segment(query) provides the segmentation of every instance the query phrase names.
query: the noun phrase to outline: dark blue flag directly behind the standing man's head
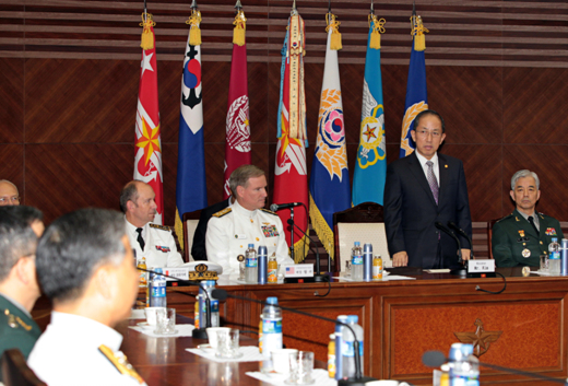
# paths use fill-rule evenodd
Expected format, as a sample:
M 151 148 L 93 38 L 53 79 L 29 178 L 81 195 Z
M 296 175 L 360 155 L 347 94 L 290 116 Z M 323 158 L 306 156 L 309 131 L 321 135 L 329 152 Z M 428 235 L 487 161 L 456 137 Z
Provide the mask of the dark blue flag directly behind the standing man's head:
M 411 51 L 411 66 L 409 68 L 409 81 L 406 83 L 406 101 L 404 102 L 404 118 L 402 119 L 400 157 L 412 154 L 416 144 L 412 140 L 411 130 L 414 118 L 418 113 L 428 109 L 426 92 L 426 60 L 424 57 L 424 32 L 422 20 L 413 13 L 413 43 Z M 416 40 L 418 39 L 418 43 Z M 421 50 L 416 50 L 416 46 Z

